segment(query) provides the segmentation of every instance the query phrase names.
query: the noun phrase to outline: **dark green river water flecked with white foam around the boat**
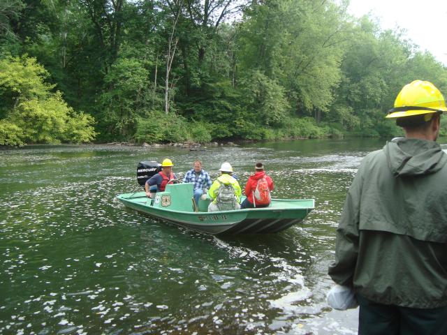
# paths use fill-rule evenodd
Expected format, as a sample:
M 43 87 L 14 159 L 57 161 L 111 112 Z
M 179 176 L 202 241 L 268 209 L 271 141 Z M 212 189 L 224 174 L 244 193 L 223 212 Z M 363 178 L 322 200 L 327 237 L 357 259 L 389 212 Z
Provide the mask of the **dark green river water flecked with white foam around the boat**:
M 325 304 L 335 230 L 358 165 L 384 140 L 300 140 L 202 151 L 32 146 L 0 151 L 0 334 L 356 334 Z M 261 161 L 274 198 L 314 198 L 304 223 L 213 237 L 125 209 L 139 161 L 177 177 Z

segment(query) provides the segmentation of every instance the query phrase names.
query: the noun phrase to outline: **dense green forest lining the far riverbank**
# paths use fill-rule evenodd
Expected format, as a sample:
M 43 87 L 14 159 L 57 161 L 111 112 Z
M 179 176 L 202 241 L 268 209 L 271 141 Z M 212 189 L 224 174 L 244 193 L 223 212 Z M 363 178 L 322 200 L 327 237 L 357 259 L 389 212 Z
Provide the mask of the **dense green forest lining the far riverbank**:
M 0 145 L 392 136 L 447 68 L 344 0 L 2 0 Z

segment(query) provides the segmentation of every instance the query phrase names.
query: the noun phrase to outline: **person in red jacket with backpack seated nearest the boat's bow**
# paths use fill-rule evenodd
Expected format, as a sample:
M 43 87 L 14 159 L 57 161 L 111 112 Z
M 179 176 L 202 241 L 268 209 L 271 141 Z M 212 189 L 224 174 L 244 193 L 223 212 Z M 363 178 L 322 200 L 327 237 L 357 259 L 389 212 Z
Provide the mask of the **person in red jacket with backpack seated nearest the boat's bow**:
M 272 178 L 265 174 L 263 163 L 256 163 L 254 171 L 245 185 L 247 198 L 240 204 L 241 209 L 270 206 L 270 191 L 274 187 Z

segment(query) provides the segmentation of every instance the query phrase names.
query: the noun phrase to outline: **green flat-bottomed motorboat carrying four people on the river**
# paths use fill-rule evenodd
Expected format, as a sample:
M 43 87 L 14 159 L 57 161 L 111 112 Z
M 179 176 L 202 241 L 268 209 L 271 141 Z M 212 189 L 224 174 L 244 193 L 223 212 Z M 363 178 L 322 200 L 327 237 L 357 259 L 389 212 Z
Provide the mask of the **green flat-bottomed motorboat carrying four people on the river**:
M 314 199 L 272 199 L 265 208 L 208 213 L 210 199 L 200 199 L 196 207 L 192 194 L 193 184 L 168 184 L 164 192 L 156 193 L 153 202 L 145 192 L 121 194 L 117 198 L 126 207 L 207 234 L 280 232 L 300 223 L 314 209 Z

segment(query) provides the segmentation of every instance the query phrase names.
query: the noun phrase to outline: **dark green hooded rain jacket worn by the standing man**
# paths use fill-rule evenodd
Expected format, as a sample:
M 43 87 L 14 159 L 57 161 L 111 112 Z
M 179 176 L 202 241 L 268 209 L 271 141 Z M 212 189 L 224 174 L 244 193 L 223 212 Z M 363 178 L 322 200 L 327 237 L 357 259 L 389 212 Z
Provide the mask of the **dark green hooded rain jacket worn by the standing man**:
M 349 189 L 328 274 L 379 304 L 447 305 L 447 155 L 399 138 L 368 154 Z

